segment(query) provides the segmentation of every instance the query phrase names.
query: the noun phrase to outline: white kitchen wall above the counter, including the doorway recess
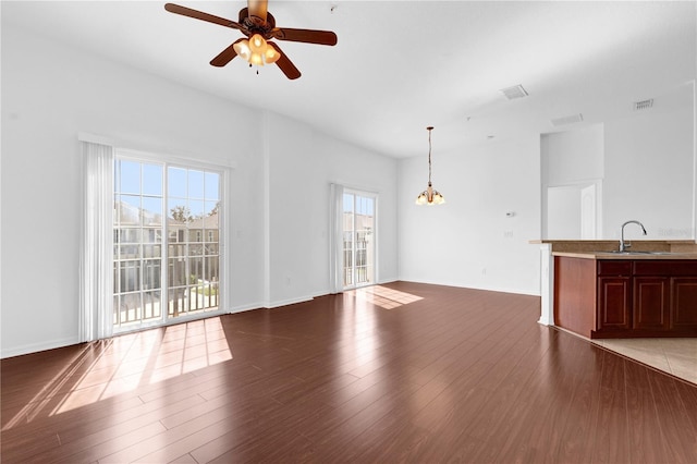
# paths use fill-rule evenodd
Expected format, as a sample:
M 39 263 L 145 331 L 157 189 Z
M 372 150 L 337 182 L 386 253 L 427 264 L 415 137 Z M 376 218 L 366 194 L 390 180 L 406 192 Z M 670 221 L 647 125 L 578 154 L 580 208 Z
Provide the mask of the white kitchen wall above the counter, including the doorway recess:
M 626 236 L 646 240 L 695 237 L 695 95 L 687 83 L 655 98 L 653 108 L 589 127 L 541 136 L 542 233 L 545 239 L 579 239 L 570 206 L 547 197 L 549 186 L 598 188 L 598 239 L 619 240 L 623 222 L 638 227 Z M 580 192 L 579 192 L 580 194 Z M 558 196 L 561 199 L 561 195 Z M 547 212 L 550 211 L 549 215 Z

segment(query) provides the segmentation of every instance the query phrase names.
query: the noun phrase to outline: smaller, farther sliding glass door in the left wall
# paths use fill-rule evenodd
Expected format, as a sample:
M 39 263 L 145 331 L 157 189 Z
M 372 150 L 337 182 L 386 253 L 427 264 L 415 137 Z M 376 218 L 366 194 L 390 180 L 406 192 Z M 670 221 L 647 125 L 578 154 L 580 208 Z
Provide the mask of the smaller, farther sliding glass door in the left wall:
M 344 289 L 375 283 L 376 222 L 376 197 L 367 193 L 344 191 Z

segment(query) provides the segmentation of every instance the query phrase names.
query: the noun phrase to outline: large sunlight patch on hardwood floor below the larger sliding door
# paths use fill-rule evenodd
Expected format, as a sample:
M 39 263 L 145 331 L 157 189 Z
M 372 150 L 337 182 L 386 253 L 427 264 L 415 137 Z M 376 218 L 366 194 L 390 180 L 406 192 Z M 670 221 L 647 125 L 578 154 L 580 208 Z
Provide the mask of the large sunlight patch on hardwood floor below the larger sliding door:
M 88 343 L 3 430 L 49 410 L 62 414 L 232 357 L 217 317 Z

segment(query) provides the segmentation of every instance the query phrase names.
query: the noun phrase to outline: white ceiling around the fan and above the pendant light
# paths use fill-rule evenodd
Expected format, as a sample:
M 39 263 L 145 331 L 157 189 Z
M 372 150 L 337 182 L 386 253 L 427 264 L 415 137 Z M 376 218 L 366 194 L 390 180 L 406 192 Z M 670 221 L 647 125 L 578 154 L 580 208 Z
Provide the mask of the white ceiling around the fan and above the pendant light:
M 237 20 L 244 1 L 172 2 Z M 2 1 L 2 22 L 393 156 L 465 151 L 550 120 L 626 117 L 697 76 L 697 2 L 270 0 L 281 27 L 334 30 L 335 47 L 277 41 L 303 76 L 208 62 L 237 30 L 164 1 Z M 522 84 L 524 99 L 500 89 Z

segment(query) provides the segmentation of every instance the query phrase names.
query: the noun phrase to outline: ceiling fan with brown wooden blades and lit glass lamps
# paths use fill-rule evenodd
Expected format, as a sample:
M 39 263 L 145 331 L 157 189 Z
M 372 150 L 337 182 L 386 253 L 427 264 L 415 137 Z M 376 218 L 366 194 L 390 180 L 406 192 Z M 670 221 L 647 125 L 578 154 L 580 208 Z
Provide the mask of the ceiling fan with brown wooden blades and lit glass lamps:
M 295 68 L 281 48 L 270 39 L 301 41 L 305 44 L 337 45 L 337 34 L 330 30 L 293 29 L 289 27 L 276 27 L 276 19 L 267 10 L 267 0 L 247 0 L 247 8 L 240 10 L 239 22 L 225 20 L 192 10 L 191 8 L 167 3 L 164 10 L 194 17 L 208 23 L 219 24 L 240 30 L 246 38 L 240 38 L 221 51 L 210 61 L 213 66 L 224 66 L 233 58 L 240 56 L 249 65 L 264 65 L 276 63 L 283 74 L 290 80 L 301 76 L 301 72 Z

